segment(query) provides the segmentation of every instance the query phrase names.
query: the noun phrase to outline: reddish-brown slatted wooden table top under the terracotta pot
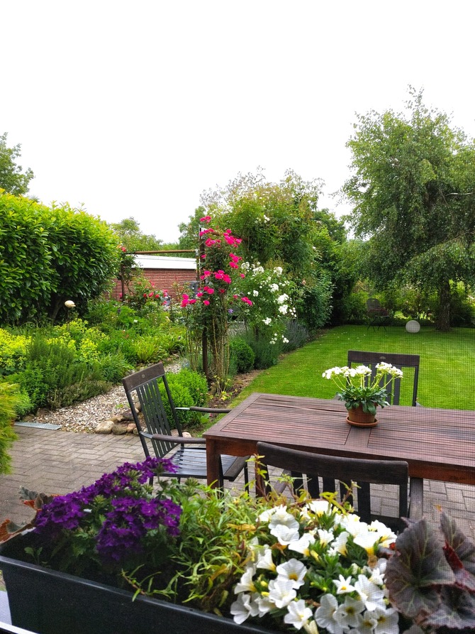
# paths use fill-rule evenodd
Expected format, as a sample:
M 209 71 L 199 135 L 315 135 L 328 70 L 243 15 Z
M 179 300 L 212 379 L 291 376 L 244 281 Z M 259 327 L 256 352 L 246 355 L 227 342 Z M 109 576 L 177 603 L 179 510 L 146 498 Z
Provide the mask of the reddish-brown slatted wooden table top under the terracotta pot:
M 409 475 L 475 484 L 475 411 L 391 405 L 369 429 L 338 400 L 253 393 L 203 436 L 208 455 L 249 455 L 258 441 L 355 458 L 403 459 Z

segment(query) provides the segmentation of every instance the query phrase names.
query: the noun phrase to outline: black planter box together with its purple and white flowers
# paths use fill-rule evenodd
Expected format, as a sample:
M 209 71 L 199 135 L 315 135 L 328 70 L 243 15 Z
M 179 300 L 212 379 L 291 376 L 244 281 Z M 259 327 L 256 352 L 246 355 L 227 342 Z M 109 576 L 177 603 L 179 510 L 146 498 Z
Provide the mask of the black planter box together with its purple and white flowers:
M 386 526 L 360 523 L 332 496 L 233 496 L 160 479 L 164 469 L 168 460 L 147 458 L 65 496 L 23 490 L 35 518 L 1 527 L 15 625 L 41 634 L 312 633 L 330 618 L 317 613 L 321 601 L 345 611 L 345 592 L 363 587 L 393 613 L 375 556 L 396 539 Z M 159 479 L 153 487 L 151 476 Z M 362 618 L 368 605 L 358 603 Z

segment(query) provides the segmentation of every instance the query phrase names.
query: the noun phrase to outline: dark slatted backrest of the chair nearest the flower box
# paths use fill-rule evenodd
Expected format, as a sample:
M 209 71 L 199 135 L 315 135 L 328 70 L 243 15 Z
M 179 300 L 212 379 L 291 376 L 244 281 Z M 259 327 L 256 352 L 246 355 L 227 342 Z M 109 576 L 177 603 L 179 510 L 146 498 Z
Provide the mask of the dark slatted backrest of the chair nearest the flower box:
M 291 472 L 306 474 L 307 478 L 318 481 L 318 476 L 325 479 L 337 479 L 341 482 L 357 482 L 358 515 L 364 522 L 371 522 L 371 488 L 370 484 L 394 484 L 399 487 L 399 515 L 395 525 L 403 526 L 399 518 L 408 516 L 408 481 L 409 467 L 406 461 L 400 460 L 365 460 L 359 458 L 341 458 L 301 452 L 296 449 L 279 447 L 267 442 L 257 443 L 257 453 L 264 466 L 277 466 Z M 313 489 L 315 491 L 315 487 Z M 334 490 L 334 489 L 333 489 Z M 315 493 L 312 492 L 315 497 Z M 388 518 L 381 518 L 388 522 Z

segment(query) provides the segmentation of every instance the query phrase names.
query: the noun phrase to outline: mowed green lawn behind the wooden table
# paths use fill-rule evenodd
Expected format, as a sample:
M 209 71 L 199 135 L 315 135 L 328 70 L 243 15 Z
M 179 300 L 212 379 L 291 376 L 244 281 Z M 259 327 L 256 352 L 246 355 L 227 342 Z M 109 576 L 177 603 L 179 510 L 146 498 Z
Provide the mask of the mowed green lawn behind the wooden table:
M 410 334 L 404 327 L 388 327 L 386 331 L 336 327 L 262 371 L 236 402 L 252 392 L 333 398 L 335 384 L 322 378 L 322 373 L 346 365 L 348 350 L 419 354 L 419 403 L 431 408 L 475 410 L 475 329 L 468 328 L 441 333 L 424 327 Z M 410 405 L 412 383 L 413 376 L 405 373 L 401 405 Z

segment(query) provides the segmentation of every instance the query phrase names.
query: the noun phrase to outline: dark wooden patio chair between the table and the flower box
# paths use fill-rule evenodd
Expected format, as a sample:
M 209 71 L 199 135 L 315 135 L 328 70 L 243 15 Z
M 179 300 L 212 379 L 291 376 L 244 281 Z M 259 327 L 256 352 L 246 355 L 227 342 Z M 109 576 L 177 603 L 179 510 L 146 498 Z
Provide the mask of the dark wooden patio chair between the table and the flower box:
M 364 522 L 379 520 L 392 530 L 400 531 L 406 527 L 401 518 L 418 520 L 423 515 L 423 480 L 408 476 L 408 463 L 399 460 L 365 460 L 360 458 L 342 458 L 326 456 L 324 454 L 312 454 L 300 452 L 296 449 L 279 447 L 267 442 L 257 443 L 257 453 L 262 456 L 259 459 L 264 469 L 267 466 L 276 466 L 286 472 L 300 471 L 307 475 L 308 493 L 313 498 L 320 497 L 318 476 L 340 480 L 350 486 L 351 482 L 357 482 L 361 486 L 357 491 L 358 510 L 357 515 Z M 295 484 L 295 483 L 294 483 Z M 371 484 L 396 485 L 399 488 L 398 517 L 391 515 L 376 515 L 371 513 Z M 408 500 L 408 484 L 410 488 Z M 323 488 L 323 491 L 335 491 L 335 488 Z M 384 491 L 384 489 L 383 489 Z M 346 492 L 341 486 L 340 496 Z M 352 496 L 349 498 L 352 503 Z

